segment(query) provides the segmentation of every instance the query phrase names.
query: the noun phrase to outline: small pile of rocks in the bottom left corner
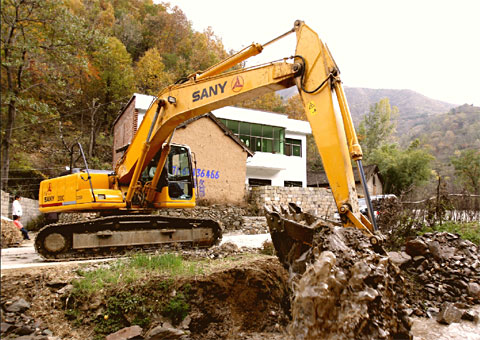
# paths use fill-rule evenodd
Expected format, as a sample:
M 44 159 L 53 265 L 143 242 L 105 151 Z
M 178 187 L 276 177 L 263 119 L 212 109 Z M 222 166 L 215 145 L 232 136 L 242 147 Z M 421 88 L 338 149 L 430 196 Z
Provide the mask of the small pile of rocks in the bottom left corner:
M 27 316 L 30 303 L 19 297 L 5 301 L 2 305 L 2 323 L 0 326 L 2 339 L 22 340 L 60 340 L 41 321 Z

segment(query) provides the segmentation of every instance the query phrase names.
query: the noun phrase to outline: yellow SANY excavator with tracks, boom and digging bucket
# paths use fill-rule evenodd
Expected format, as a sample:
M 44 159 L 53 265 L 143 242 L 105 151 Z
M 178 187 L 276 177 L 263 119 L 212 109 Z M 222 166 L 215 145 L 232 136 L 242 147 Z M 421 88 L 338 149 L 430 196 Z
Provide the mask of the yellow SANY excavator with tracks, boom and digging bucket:
M 297 37 L 294 56 L 230 70 L 289 33 Z M 352 160 L 358 163 L 366 189 L 362 151 L 339 75 L 327 46 L 310 27 L 297 20 L 292 30 L 267 44 L 252 44 L 168 86 L 147 110 L 114 171 L 90 170 L 85 162 L 83 170 L 41 183 L 41 212 L 99 212 L 103 217 L 47 225 L 36 237 L 37 252 L 47 260 L 68 260 L 171 243 L 205 247 L 217 243 L 221 230 L 215 221 L 151 214 L 157 209 L 195 206 L 192 157 L 187 146 L 171 143 L 175 129 L 211 110 L 292 86 L 300 93 L 341 223 L 373 235 L 374 218 L 370 222 L 358 208 Z M 365 195 L 370 202 L 368 190 Z M 300 213 L 298 207 L 292 209 Z M 368 210 L 373 217 L 371 203 Z M 294 244 L 308 246 L 311 230 L 305 225 L 285 223 L 274 211 L 268 212 L 267 219 L 280 254 L 289 253 Z

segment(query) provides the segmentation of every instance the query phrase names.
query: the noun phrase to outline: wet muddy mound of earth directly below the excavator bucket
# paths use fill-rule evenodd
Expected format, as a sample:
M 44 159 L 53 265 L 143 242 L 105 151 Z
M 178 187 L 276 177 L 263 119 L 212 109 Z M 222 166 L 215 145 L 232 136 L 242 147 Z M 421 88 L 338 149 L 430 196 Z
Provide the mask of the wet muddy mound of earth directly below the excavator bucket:
M 409 339 L 400 270 L 354 228 L 324 227 L 296 283 L 296 339 Z

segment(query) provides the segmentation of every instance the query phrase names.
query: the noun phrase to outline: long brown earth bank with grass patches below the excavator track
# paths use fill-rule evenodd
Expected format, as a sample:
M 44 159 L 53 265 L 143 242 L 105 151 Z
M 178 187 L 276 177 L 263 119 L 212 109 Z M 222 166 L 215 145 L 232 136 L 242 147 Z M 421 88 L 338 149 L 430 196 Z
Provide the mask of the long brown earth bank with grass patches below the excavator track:
M 288 273 L 273 256 L 253 256 L 219 261 L 209 274 L 175 280 L 151 275 L 128 287 L 104 287 L 93 296 L 72 293 L 72 279 L 85 267 L 16 273 L 2 277 L 1 305 L 24 299 L 31 305 L 28 320 L 21 321 L 20 314 L 4 319 L 2 311 L 2 322 L 30 328 L 41 323 L 42 330 L 65 340 L 100 338 L 133 325 L 145 335 L 165 323 L 188 332 L 191 340 L 283 339 L 290 310 Z

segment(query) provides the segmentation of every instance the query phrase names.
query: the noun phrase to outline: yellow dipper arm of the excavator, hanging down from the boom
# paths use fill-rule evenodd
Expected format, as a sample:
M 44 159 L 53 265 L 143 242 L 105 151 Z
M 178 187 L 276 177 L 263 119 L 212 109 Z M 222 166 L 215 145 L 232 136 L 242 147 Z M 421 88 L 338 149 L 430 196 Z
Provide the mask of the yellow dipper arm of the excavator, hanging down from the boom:
M 330 74 L 336 71 L 336 65 L 317 34 L 307 25 L 302 25 L 297 31 L 297 42 L 296 55 L 302 56 L 306 61 L 303 84 L 301 79 L 296 79 L 297 86 L 303 88 L 299 91 L 300 97 L 322 157 L 337 208 L 340 209 L 343 204 L 350 204 L 353 212 L 359 214 L 343 119 L 334 106 L 333 98 L 336 97 L 331 80 L 328 80 L 331 78 Z M 322 83 L 324 83 L 323 87 L 314 93 L 308 93 L 317 89 Z

